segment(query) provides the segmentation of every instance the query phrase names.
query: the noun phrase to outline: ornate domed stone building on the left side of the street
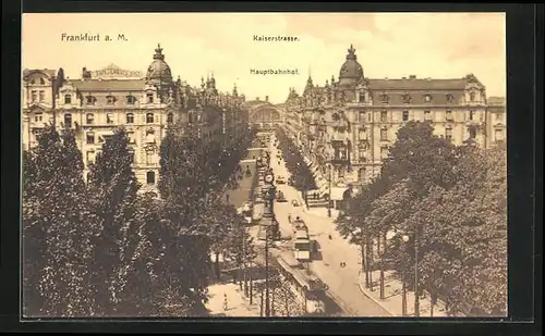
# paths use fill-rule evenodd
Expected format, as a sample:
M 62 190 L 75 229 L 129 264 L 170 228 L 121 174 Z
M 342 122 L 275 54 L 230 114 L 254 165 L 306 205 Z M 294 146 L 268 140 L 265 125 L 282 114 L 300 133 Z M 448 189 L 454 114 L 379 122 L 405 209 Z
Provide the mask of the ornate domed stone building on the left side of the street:
M 69 79 L 62 69 L 24 70 L 22 89 L 24 149 L 37 145 L 46 124 L 72 128 L 87 178 L 101 145 L 123 126 L 143 192 L 157 190 L 159 146 L 168 128 L 190 126 L 204 142 L 229 148 L 249 127 L 245 98 L 237 87 L 232 92 L 219 92 L 214 75 L 206 82 L 203 77 L 201 87 L 180 77 L 173 80 L 160 46 L 145 76 L 113 64 L 98 71 L 83 67 L 80 79 Z

